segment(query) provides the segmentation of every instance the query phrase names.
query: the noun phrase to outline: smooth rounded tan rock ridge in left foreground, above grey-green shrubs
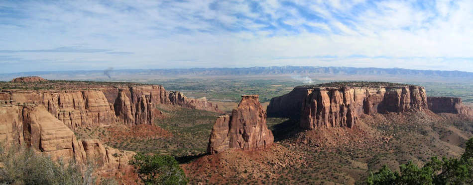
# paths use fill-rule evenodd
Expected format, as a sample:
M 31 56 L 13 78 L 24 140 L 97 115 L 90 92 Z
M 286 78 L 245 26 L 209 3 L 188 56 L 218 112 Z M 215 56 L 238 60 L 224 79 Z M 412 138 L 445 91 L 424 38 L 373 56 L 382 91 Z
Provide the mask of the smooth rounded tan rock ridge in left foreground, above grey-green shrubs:
M 102 170 L 124 168 L 134 154 L 98 140 L 78 141 L 63 122 L 35 105 L 1 105 L 0 139 L 6 146 L 25 144 L 53 160 L 97 161 Z

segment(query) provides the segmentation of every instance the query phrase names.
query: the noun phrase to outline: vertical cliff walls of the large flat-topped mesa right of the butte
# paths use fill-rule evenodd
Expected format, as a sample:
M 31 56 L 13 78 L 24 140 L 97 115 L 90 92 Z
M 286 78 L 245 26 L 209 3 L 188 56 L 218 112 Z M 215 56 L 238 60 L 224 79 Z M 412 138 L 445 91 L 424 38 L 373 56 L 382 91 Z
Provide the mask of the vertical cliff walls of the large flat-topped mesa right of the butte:
M 300 127 L 352 127 L 360 114 L 427 110 L 425 89 L 414 85 L 379 87 L 300 86 L 271 99 L 268 113 L 300 118 Z

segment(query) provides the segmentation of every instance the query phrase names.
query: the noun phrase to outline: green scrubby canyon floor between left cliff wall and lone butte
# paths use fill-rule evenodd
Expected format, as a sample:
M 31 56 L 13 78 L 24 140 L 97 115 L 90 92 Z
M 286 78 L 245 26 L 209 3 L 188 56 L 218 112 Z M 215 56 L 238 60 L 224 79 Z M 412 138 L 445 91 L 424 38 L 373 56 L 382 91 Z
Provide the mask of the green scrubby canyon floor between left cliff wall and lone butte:
M 92 134 L 90 137 L 97 135 L 97 133 L 106 135 L 101 137 L 105 140 L 105 143 L 121 150 L 175 157 L 199 156 L 206 153 L 212 126 L 220 114 L 164 106 L 160 106 L 159 109 L 166 115 L 165 118 L 157 118 L 154 121 L 155 125 L 159 127 L 148 125 L 138 130 L 133 130 L 134 127 L 119 129 L 110 127 L 106 128 L 105 134 L 103 134 L 102 129 L 104 128 L 102 128 L 94 131 L 96 134 Z M 155 131 L 149 134 L 143 133 L 149 129 L 155 129 Z M 83 137 L 83 135 L 79 134 L 79 137 Z

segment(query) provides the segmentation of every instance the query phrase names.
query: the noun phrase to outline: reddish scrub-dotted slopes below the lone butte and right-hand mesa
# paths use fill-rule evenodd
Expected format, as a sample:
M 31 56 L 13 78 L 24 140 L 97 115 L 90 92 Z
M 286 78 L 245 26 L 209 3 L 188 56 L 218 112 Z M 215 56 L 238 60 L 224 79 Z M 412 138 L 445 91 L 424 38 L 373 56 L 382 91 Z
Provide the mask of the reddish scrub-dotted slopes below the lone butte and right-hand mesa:
M 473 121 L 432 112 L 364 115 L 353 128 L 298 130 L 268 118 L 276 143 L 255 152 L 228 151 L 182 164 L 191 184 L 364 184 L 383 164 L 398 170 L 432 156 L 458 157 Z

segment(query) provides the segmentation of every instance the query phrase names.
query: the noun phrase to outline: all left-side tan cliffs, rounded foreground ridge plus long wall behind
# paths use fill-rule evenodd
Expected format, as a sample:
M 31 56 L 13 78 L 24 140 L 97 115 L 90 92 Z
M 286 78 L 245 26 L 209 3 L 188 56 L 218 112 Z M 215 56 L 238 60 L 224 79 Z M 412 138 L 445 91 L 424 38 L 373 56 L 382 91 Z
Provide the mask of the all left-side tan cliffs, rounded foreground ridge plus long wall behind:
M 50 81 L 48 81 L 50 82 Z M 95 87 L 94 87 L 95 88 Z M 96 160 L 103 170 L 120 169 L 133 152 L 99 140 L 78 141 L 78 127 L 151 124 L 164 104 L 220 112 L 206 99 L 187 98 L 159 85 L 101 86 L 95 90 L 1 90 L 0 140 L 7 146 L 26 144 L 53 159 Z

